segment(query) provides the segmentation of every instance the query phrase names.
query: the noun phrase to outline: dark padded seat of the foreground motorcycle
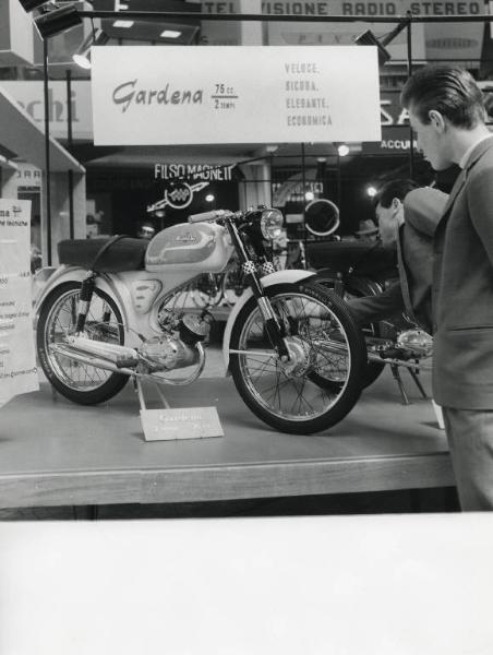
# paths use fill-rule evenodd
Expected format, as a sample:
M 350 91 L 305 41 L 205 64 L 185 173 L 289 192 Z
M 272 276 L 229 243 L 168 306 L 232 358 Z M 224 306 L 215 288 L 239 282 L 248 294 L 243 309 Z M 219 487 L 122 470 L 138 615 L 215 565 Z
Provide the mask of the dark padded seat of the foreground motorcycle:
M 58 243 L 58 259 L 61 264 L 92 269 L 97 258 L 98 273 L 121 273 L 144 269 L 144 257 L 148 241 L 123 237 L 109 246 L 100 257 L 101 249 L 111 241 L 108 239 L 65 239 Z

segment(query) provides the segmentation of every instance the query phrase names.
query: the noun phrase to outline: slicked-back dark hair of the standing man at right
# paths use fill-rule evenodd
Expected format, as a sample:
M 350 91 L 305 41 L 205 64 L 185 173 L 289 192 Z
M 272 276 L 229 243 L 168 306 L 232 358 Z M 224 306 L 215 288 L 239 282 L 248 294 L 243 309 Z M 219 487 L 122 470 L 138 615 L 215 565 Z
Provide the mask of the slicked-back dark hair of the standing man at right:
M 483 95 L 468 71 L 449 64 L 425 66 L 406 82 L 400 104 L 424 124 L 431 109 L 457 128 L 471 129 L 484 121 Z

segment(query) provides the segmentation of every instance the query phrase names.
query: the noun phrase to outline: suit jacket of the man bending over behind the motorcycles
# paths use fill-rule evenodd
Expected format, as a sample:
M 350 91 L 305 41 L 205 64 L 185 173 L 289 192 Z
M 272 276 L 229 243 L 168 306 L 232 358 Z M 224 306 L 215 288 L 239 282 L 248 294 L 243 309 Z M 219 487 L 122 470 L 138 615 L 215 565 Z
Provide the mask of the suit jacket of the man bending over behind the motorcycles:
M 408 193 L 404 202 L 405 224 L 397 238 L 399 279 L 378 296 L 348 301 L 358 323 L 382 321 L 406 311 L 431 334 L 433 236 L 447 200 L 448 195 L 431 188 Z

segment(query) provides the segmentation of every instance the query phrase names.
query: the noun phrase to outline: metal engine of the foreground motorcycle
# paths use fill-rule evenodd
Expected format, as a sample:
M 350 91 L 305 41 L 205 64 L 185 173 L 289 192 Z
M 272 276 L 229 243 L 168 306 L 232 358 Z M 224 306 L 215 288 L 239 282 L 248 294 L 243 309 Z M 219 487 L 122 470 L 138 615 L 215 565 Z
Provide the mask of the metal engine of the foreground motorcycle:
M 200 360 L 197 342 L 209 332 L 209 324 L 201 317 L 184 314 L 177 330 L 146 340 L 139 348 L 151 371 L 171 371 L 193 366 Z

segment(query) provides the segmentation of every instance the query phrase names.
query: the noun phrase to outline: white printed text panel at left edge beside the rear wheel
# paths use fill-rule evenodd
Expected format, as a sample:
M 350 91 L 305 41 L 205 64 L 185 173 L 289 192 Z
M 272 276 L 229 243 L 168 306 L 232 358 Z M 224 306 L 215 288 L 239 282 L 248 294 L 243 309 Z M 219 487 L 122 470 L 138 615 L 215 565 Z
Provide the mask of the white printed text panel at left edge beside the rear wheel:
M 0 407 L 39 389 L 31 300 L 31 202 L 0 199 Z

